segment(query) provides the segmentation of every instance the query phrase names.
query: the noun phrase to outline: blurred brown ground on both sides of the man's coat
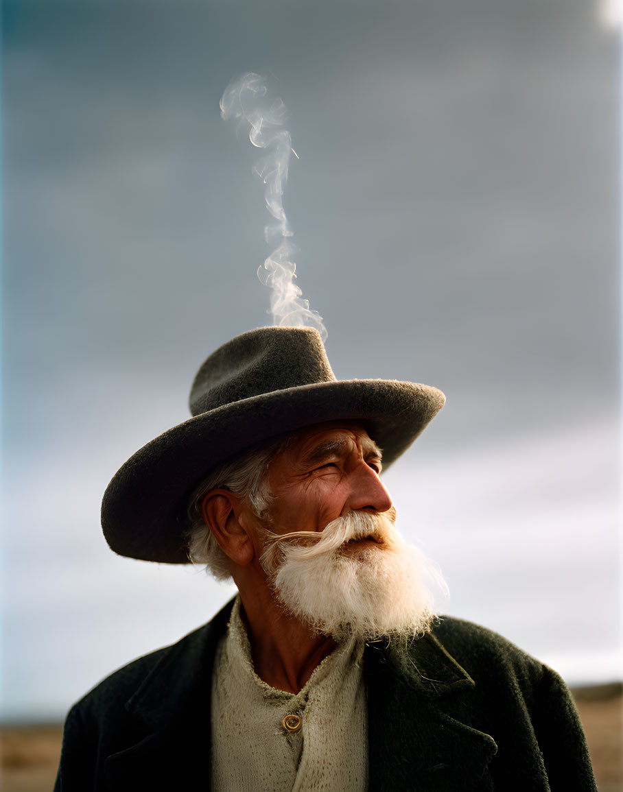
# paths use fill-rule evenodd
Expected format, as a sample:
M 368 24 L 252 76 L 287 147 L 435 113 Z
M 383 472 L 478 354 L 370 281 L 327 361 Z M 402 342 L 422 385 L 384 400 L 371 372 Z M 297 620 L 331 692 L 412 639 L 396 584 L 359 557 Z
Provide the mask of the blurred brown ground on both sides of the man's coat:
M 573 691 L 587 733 L 599 792 L 623 790 L 622 688 L 617 683 Z M 3 792 L 52 790 L 62 731 L 62 726 L 56 724 L 0 727 Z

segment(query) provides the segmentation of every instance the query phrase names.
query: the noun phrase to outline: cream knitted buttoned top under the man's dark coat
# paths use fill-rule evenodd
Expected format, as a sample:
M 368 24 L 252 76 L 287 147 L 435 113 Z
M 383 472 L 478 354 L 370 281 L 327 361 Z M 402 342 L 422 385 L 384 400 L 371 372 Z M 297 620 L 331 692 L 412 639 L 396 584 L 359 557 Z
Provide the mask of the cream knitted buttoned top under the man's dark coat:
M 212 790 L 365 790 L 362 656 L 361 642 L 338 645 L 299 693 L 270 687 L 254 672 L 236 598 L 212 675 Z M 300 717 L 299 731 L 282 725 L 288 714 Z

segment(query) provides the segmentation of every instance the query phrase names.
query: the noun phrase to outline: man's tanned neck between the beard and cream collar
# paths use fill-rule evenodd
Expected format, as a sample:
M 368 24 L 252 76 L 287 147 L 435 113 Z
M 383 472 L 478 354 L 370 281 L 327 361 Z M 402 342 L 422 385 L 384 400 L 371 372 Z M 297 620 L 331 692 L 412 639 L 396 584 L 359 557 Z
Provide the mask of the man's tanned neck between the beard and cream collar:
M 334 649 L 333 638 L 287 615 L 268 588 L 239 586 L 239 591 L 255 673 L 277 690 L 298 693 Z

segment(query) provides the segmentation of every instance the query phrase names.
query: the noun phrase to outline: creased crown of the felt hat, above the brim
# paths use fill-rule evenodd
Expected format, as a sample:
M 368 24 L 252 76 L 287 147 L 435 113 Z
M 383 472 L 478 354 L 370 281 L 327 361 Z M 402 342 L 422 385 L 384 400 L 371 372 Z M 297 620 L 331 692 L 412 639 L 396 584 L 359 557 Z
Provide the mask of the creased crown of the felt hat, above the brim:
M 275 390 L 334 381 L 318 330 L 262 327 L 212 352 L 194 379 L 190 412 L 197 416 Z

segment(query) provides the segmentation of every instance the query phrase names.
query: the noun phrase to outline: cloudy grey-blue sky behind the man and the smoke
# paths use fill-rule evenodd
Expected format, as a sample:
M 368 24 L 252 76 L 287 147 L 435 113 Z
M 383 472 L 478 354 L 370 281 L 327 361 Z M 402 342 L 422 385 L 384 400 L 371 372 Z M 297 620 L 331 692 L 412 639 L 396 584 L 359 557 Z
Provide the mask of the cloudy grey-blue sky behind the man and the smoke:
M 266 74 L 336 375 L 448 402 L 388 487 L 441 609 L 571 683 L 620 636 L 617 38 L 585 0 L 2 4 L 3 718 L 60 718 L 231 588 L 115 557 L 101 493 L 270 322 Z

